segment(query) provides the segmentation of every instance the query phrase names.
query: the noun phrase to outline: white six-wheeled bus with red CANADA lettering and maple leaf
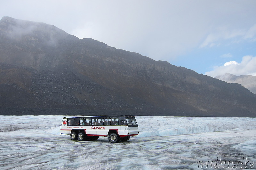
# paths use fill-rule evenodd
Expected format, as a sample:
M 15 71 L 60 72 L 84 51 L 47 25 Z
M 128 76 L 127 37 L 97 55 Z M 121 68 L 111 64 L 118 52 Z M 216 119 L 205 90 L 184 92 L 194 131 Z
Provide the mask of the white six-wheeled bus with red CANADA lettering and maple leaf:
M 127 141 L 139 135 L 138 124 L 132 115 L 64 117 L 60 134 L 70 135 L 72 140 L 97 140 L 100 136 L 108 137 L 109 142 Z

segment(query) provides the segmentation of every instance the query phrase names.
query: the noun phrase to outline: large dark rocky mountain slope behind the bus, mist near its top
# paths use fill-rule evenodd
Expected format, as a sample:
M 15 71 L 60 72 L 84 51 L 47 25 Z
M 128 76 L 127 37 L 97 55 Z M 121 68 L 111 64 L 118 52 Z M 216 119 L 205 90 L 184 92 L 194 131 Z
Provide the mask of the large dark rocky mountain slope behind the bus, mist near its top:
M 256 95 L 239 84 L 10 17 L 0 94 L 2 115 L 256 116 Z

